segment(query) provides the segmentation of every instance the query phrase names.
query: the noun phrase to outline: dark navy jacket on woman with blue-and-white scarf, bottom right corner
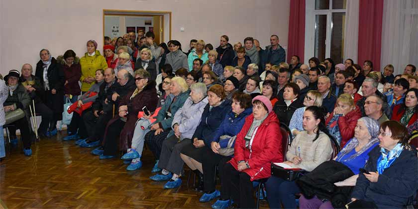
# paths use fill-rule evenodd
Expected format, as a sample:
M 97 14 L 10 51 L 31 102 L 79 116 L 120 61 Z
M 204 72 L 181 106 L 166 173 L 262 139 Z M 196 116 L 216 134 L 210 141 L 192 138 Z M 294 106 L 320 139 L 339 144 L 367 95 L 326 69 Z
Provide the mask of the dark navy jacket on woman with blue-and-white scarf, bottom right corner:
M 380 147 L 376 146 L 369 152 L 369 160 L 364 169 L 376 172 L 377 160 L 380 155 Z M 405 145 L 398 159 L 389 168 L 386 168 L 383 174 L 379 174 L 377 182 L 371 183 L 360 173 L 351 197 L 372 201 L 379 209 L 403 208 L 407 204 L 408 198 L 417 193 L 417 173 L 417 151 L 410 145 Z

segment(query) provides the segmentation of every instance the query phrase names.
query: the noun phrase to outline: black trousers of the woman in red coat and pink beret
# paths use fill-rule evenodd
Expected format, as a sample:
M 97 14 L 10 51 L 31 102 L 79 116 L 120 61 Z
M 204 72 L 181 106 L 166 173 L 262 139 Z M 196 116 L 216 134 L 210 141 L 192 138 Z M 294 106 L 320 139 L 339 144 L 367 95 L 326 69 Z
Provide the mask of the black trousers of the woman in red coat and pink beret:
M 222 191 L 232 197 L 235 203 L 238 203 L 240 209 L 253 209 L 255 202 L 253 198 L 253 185 L 250 176 L 245 172 L 239 172 L 226 163 L 223 167 L 223 179 L 221 181 Z M 222 198 L 223 199 L 223 198 Z

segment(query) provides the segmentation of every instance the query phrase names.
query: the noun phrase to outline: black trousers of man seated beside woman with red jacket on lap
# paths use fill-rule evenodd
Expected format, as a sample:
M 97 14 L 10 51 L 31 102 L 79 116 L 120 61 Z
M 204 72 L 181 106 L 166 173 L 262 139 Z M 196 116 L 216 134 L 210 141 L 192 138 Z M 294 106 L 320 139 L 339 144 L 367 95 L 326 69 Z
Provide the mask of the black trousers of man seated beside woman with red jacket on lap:
M 99 117 L 96 117 L 93 111 L 88 111 L 86 114 L 83 114 L 84 124 L 86 125 L 90 141 L 103 140 L 104 129 L 111 118 L 111 112 L 104 112 L 103 114 L 100 114 Z

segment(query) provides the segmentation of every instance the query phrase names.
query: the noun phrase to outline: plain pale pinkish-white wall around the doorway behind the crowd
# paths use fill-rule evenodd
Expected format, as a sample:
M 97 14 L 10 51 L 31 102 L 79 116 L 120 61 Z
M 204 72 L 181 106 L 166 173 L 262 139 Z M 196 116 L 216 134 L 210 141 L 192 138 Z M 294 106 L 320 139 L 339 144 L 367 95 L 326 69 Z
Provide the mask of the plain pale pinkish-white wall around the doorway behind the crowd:
M 101 50 L 103 9 L 172 11 L 172 39 L 184 50 L 192 38 L 216 47 L 223 34 L 230 43 L 253 36 L 264 47 L 274 33 L 286 47 L 289 6 L 290 0 L 0 0 L 0 73 L 34 66 L 42 48 L 54 57 L 67 49 L 83 56 L 94 39 Z

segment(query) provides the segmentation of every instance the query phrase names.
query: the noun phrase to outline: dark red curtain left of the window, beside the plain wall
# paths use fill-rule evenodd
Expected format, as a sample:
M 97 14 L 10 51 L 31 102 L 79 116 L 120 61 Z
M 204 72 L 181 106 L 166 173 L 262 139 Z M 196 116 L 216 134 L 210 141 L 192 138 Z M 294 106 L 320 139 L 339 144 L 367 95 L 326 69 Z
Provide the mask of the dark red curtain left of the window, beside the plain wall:
M 288 63 L 293 55 L 298 55 L 303 63 L 305 55 L 305 0 L 290 0 L 288 37 Z

